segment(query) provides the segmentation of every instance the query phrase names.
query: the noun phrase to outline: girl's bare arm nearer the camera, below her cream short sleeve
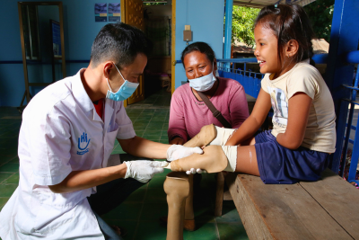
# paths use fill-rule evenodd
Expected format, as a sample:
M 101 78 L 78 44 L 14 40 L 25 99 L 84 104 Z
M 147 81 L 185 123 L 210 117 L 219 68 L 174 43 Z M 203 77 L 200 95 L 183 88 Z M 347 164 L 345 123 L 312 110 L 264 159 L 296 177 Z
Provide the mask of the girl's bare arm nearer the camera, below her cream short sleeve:
M 276 141 L 280 145 L 289 149 L 297 149 L 302 145 L 311 102 L 311 97 L 306 93 L 295 93 L 288 100 L 288 123 L 285 133 L 276 136 Z

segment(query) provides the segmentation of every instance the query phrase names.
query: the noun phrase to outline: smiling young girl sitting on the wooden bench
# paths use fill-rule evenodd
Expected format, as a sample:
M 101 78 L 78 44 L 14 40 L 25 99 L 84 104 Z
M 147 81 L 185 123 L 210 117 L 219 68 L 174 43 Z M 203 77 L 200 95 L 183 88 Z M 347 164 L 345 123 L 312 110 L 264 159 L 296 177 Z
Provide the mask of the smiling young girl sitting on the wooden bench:
M 256 105 L 238 130 L 215 127 L 209 145 L 222 146 L 217 152 L 228 160 L 224 171 L 258 175 L 265 183 L 317 181 L 336 150 L 336 116 L 328 86 L 310 65 L 314 34 L 308 16 L 299 5 L 268 5 L 258 14 L 254 35 L 254 54 L 266 74 Z M 271 107 L 273 130 L 257 133 Z M 208 140 L 204 132 L 197 139 Z M 212 149 L 178 164 L 191 163 L 182 169 L 196 173 L 198 160 L 215 161 L 206 148 Z

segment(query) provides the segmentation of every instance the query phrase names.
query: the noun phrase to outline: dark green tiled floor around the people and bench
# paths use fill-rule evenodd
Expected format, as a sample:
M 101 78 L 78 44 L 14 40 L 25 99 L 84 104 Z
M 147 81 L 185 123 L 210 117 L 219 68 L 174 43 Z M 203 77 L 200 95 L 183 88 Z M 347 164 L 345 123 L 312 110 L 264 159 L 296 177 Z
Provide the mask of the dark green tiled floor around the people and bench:
M 162 91 L 142 102 L 127 107 L 136 135 L 156 142 L 168 143 L 167 129 L 171 93 Z M 0 108 L 0 209 L 9 200 L 19 182 L 17 157 L 21 115 L 15 108 Z M 112 154 L 124 153 L 115 143 Z M 166 227 L 159 218 L 167 215 L 163 182 L 166 174 L 155 175 L 151 182 L 134 191 L 117 209 L 102 216 L 109 224 L 127 229 L 127 239 L 166 239 Z M 184 231 L 184 239 L 248 239 L 232 201 L 223 202 L 223 216 L 214 217 L 215 174 L 202 174 L 200 188 L 195 192 L 194 209 L 197 230 Z

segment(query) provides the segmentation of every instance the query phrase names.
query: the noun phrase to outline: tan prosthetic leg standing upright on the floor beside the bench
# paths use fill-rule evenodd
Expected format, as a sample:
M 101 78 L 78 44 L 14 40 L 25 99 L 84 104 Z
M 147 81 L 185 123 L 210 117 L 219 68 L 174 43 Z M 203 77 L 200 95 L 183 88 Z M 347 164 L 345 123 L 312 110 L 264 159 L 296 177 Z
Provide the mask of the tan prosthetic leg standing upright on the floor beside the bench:
M 166 239 L 183 240 L 185 204 L 190 191 L 188 175 L 186 173 L 168 173 L 163 189 L 167 194 L 169 206 Z

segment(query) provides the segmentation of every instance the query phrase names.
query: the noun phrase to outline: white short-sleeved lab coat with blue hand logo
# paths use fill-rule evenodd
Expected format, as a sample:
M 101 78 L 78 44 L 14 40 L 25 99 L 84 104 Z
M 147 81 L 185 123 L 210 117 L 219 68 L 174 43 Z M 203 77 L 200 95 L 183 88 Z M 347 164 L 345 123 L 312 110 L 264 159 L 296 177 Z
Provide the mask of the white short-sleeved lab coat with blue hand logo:
M 104 239 L 87 201 L 96 188 L 54 193 L 48 185 L 72 171 L 108 164 L 116 138 L 134 138 L 123 102 L 106 99 L 104 122 L 77 75 L 49 85 L 22 114 L 20 182 L 0 212 L 0 236 L 11 239 Z

